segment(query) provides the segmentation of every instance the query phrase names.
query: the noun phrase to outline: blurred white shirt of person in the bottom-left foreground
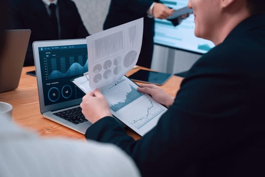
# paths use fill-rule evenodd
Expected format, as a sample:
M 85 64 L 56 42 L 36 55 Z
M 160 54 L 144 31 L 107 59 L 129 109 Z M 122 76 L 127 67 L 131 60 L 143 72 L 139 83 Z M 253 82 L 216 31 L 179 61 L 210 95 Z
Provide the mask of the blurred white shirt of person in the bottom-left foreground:
M 111 144 L 41 139 L 0 115 L 0 176 L 140 176 L 133 160 Z

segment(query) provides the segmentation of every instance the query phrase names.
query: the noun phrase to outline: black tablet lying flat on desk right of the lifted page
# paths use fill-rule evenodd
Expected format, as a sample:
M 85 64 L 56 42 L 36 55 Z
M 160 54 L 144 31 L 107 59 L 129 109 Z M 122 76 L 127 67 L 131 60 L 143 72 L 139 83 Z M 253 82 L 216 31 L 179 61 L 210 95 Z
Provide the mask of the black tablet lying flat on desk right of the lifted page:
M 130 75 L 129 78 L 134 81 L 163 85 L 171 76 L 172 74 L 170 73 L 147 71 L 140 69 L 139 71 Z

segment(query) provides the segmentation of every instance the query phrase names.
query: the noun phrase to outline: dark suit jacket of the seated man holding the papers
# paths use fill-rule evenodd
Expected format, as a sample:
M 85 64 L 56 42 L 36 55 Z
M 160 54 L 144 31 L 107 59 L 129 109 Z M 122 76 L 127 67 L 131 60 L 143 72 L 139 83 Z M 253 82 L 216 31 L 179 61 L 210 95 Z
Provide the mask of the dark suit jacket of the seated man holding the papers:
M 265 176 L 264 51 L 262 14 L 192 66 L 174 104 L 141 140 L 112 117 L 85 136 L 121 147 L 143 176 Z

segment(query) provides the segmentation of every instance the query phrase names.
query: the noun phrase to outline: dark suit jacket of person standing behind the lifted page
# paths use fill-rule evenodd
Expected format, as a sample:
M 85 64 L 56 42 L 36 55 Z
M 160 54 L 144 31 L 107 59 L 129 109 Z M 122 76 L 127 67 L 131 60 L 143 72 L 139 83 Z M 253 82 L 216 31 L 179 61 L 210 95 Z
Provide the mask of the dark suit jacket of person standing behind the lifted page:
M 143 41 L 137 65 L 151 67 L 153 53 L 154 19 L 147 17 L 147 10 L 158 0 L 112 0 L 103 29 L 112 28 L 143 17 Z

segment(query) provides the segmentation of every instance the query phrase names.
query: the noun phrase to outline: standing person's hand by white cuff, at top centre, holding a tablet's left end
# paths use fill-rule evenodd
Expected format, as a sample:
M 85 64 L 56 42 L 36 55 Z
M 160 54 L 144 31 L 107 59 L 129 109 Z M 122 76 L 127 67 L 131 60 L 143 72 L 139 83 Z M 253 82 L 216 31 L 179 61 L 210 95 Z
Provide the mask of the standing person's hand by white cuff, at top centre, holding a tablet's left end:
M 158 19 L 166 19 L 172 15 L 174 9 L 168 8 L 166 5 L 161 3 L 154 3 L 153 5 L 153 17 Z

